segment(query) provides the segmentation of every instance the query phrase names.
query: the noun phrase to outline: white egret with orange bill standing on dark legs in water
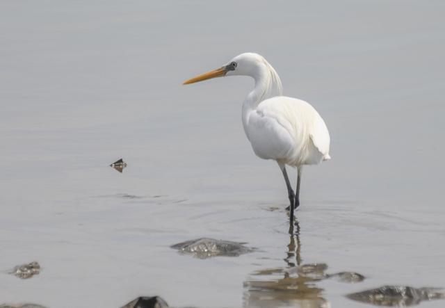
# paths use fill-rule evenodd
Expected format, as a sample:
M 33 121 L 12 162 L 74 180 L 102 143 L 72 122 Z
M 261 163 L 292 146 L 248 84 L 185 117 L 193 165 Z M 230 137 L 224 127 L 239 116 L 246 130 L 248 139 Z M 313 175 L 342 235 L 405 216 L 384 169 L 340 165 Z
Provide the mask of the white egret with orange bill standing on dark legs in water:
M 254 89 L 243 102 L 243 127 L 252 148 L 261 159 L 277 161 L 290 202 L 290 223 L 293 211 L 300 205 L 302 165 L 314 165 L 330 159 L 329 131 L 317 111 L 305 101 L 282 96 L 282 83 L 277 72 L 259 54 L 245 53 L 227 65 L 207 72 L 184 84 L 221 76 L 250 76 Z M 286 165 L 297 168 L 296 193 L 293 192 Z

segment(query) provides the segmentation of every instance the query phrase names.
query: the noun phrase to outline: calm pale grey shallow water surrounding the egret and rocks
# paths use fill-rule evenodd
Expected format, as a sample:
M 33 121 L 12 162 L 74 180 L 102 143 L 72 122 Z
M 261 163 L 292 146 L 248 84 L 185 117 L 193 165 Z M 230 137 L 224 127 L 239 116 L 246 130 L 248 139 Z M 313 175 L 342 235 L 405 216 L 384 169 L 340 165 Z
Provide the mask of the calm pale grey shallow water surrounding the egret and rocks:
M 152 2 L 0 3 L 0 302 L 347 308 L 386 284 L 445 286 L 441 1 Z M 181 86 L 243 51 L 330 129 L 332 161 L 303 171 L 298 241 L 280 170 L 243 133 L 252 81 Z M 170 248 L 200 237 L 257 250 Z M 31 279 L 7 273 L 34 260 Z M 366 279 L 292 272 L 313 263 Z

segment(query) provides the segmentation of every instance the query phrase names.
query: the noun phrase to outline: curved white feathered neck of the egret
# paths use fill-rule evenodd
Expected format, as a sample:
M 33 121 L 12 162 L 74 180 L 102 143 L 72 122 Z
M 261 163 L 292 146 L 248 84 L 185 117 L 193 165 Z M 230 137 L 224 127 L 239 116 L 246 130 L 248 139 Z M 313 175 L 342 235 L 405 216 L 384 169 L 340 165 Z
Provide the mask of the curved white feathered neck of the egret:
M 243 125 L 246 129 L 250 111 L 254 111 L 265 99 L 281 96 L 283 92 L 280 76 L 266 60 L 252 72 L 255 81 L 254 89 L 243 102 Z

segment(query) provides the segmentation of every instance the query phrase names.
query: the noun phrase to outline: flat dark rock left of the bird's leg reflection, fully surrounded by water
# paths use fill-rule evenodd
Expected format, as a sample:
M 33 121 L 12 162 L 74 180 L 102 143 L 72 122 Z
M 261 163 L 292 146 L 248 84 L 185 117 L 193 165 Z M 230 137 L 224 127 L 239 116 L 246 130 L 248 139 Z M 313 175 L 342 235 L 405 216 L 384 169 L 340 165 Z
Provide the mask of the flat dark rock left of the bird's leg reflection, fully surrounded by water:
M 193 254 L 193 257 L 199 259 L 207 259 L 217 256 L 238 257 L 241 254 L 253 251 L 252 248 L 245 247 L 243 244 L 245 243 L 220 241 L 213 238 L 197 238 L 172 245 L 171 248 L 184 254 Z

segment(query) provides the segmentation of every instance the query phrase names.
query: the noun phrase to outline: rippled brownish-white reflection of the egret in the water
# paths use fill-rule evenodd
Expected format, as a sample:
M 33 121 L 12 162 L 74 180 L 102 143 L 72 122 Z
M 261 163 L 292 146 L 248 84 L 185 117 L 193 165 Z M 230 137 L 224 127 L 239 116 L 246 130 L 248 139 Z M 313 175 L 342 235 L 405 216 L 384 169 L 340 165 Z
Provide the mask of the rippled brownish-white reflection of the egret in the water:
M 315 282 L 325 277 L 326 264 L 301 264 L 300 224 L 289 234 L 286 266 L 259 270 L 244 283 L 244 307 L 329 308 Z

